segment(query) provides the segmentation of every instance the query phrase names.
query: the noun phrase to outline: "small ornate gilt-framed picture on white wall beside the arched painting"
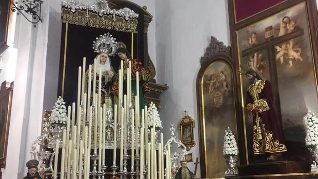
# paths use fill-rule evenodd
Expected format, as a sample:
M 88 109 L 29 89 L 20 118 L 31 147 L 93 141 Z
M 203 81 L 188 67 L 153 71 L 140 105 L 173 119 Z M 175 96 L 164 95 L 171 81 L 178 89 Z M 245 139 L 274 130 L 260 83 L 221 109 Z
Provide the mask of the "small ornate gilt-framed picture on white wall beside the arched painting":
M 181 143 L 186 146 L 187 150 L 190 150 L 195 146 L 193 128 L 195 126 L 194 120 L 189 115 L 185 114 L 179 123 Z

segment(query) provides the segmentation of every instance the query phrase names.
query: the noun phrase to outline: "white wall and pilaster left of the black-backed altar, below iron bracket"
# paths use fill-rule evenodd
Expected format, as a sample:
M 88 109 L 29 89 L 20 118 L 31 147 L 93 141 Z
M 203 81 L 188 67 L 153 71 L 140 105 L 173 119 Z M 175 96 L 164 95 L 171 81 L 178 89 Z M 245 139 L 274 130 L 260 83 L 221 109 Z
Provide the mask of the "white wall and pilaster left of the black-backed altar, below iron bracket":
M 17 65 L 16 68 L 10 67 L 15 71 L 15 83 L 3 178 L 23 178 L 26 175 L 25 164 L 31 159 L 31 144 L 41 133 L 44 101 L 49 106 L 54 104 L 61 39 L 60 12 L 59 1 L 44 2 L 43 21 L 37 27 L 33 27 L 22 15 L 17 16 L 14 39 Z M 51 71 L 46 72 L 47 67 Z M 48 84 L 56 87 L 50 89 Z

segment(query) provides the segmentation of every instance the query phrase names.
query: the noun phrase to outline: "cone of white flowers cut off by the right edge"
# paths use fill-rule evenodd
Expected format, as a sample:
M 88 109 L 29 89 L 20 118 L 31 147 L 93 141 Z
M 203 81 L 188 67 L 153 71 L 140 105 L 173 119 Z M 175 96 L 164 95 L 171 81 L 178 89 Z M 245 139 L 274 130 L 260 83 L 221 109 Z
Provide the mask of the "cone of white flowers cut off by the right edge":
M 316 148 L 318 146 L 318 118 L 312 111 L 304 116 L 306 126 L 305 144 L 307 147 Z

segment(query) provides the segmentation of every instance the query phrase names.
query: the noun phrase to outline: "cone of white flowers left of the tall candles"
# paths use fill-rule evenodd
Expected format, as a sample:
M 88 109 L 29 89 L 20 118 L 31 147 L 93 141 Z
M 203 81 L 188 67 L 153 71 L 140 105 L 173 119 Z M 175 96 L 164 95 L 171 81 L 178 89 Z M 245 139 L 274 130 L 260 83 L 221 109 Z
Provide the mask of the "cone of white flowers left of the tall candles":
M 49 117 L 49 123 L 65 125 L 66 119 L 67 119 L 67 114 L 66 114 L 65 102 L 61 96 L 58 96 L 57 101 L 55 102 L 55 105 Z

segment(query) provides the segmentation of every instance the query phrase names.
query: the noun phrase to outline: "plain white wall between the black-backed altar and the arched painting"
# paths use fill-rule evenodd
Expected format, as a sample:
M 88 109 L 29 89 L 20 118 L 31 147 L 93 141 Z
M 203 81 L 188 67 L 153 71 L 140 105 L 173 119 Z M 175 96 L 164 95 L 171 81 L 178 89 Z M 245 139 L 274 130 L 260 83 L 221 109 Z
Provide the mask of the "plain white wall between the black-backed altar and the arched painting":
M 195 120 L 196 145 L 189 153 L 193 160 L 200 158 L 197 127 L 196 76 L 200 69 L 200 57 L 215 36 L 225 45 L 230 44 L 226 1 L 218 0 L 155 0 L 156 70 L 157 82 L 169 86 L 161 97 L 161 118 L 167 141 L 169 123 L 178 124 L 183 111 Z M 180 134 L 177 132 L 177 135 Z M 194 164 L 188 167 L 194 171 Z M 200 177 L 200 164 L 197 169 Z

